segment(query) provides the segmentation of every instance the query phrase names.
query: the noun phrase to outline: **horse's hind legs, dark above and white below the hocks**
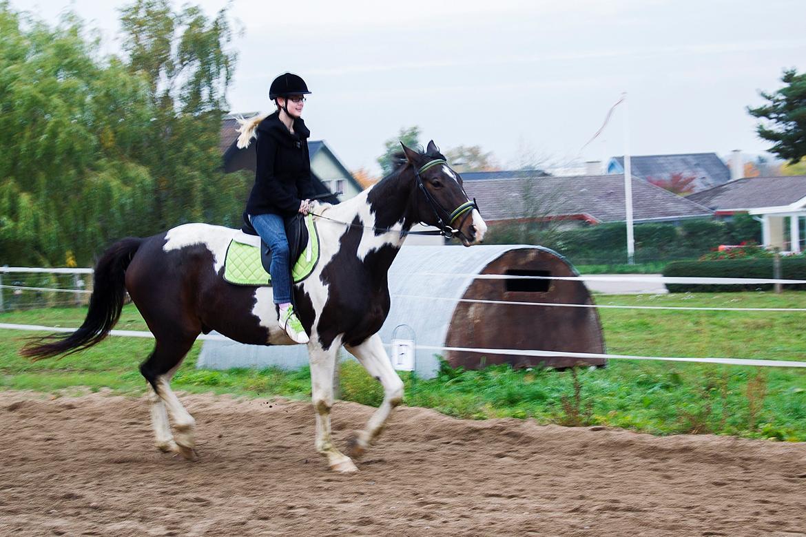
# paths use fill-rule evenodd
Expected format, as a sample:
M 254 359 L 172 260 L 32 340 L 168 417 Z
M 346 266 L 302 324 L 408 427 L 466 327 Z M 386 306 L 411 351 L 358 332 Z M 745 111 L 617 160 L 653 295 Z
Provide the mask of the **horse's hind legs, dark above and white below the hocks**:
M 152 392 L 152 426 L 157 448 L 161 451 L 177 452 L 190 460 L 196 458 L 193 449 L 195 446 L 193 428 L 196 420 L 173 393 L 170 381 L 193 346 L 194 340 L 195 336 L 178 341 L 158 339 L 151 356 L 140 366 L 140 373 L 148 381 L 149 391 Z M 168 418 L 173 424 L 173 435 Z

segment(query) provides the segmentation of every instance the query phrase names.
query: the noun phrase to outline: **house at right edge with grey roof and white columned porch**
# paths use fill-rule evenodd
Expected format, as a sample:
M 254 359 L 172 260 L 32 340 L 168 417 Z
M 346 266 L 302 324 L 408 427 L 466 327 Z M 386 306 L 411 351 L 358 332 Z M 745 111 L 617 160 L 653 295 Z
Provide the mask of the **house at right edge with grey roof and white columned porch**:
M 806 176 L 745 177 L 686 198 L 705 205 L 718 217 L 749 213 L 762 221 L 762 242 L 768 248 L 806 249 Z

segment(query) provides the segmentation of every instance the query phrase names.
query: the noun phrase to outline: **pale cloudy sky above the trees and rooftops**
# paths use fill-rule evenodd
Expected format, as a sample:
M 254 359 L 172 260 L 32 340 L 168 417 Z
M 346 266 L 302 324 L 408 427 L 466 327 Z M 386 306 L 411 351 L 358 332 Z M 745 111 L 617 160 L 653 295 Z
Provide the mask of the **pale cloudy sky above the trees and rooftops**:
M 123 0 L 10 3 L 48 23 L 73 10 L 103 52 L 120 50 Z M 783 69 L 806 69 L 803 0 L 193 3 L 210 16 L 229 6 L 241 30 L 232 112 L 272 111 L 272 79 L 296 72 L 313 91 L 312 139 L 373 173 L 384 141 L 414 125 L 423 144 L 478 145 L 502 167 L 606 162 L 625 147 L 750 158 L 771 144 L 746 107 L 781 87 Z

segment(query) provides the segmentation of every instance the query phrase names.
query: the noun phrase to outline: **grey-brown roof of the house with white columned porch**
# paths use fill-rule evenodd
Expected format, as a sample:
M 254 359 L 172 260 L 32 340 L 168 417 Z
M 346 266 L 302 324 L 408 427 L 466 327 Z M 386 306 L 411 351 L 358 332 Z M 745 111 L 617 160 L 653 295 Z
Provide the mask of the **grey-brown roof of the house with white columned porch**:
M 715 211 L 788 205 L 806 197 L 806 176 L 745 177 L 688 196 Z

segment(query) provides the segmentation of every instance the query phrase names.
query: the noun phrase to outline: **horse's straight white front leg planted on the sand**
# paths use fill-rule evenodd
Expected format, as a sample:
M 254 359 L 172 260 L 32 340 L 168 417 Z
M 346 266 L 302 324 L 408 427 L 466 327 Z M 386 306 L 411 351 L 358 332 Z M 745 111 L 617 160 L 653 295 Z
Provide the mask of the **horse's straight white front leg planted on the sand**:
M 330 408 L 333 407 L 333 373 L 336 364 L 336 355 L 339 352 L 339 345 L 330 346 L 330 349 L 322 349 L 311 338 L 308 344 L 310 354 L 310 381 L 311 393 L 316 410 L 316 450 L 327 457 L 327 464 L 330 469 L 337 472 L 351 473 L 357 472 L 350 457 L 340 452 L 333 444 L 330 436 Z

